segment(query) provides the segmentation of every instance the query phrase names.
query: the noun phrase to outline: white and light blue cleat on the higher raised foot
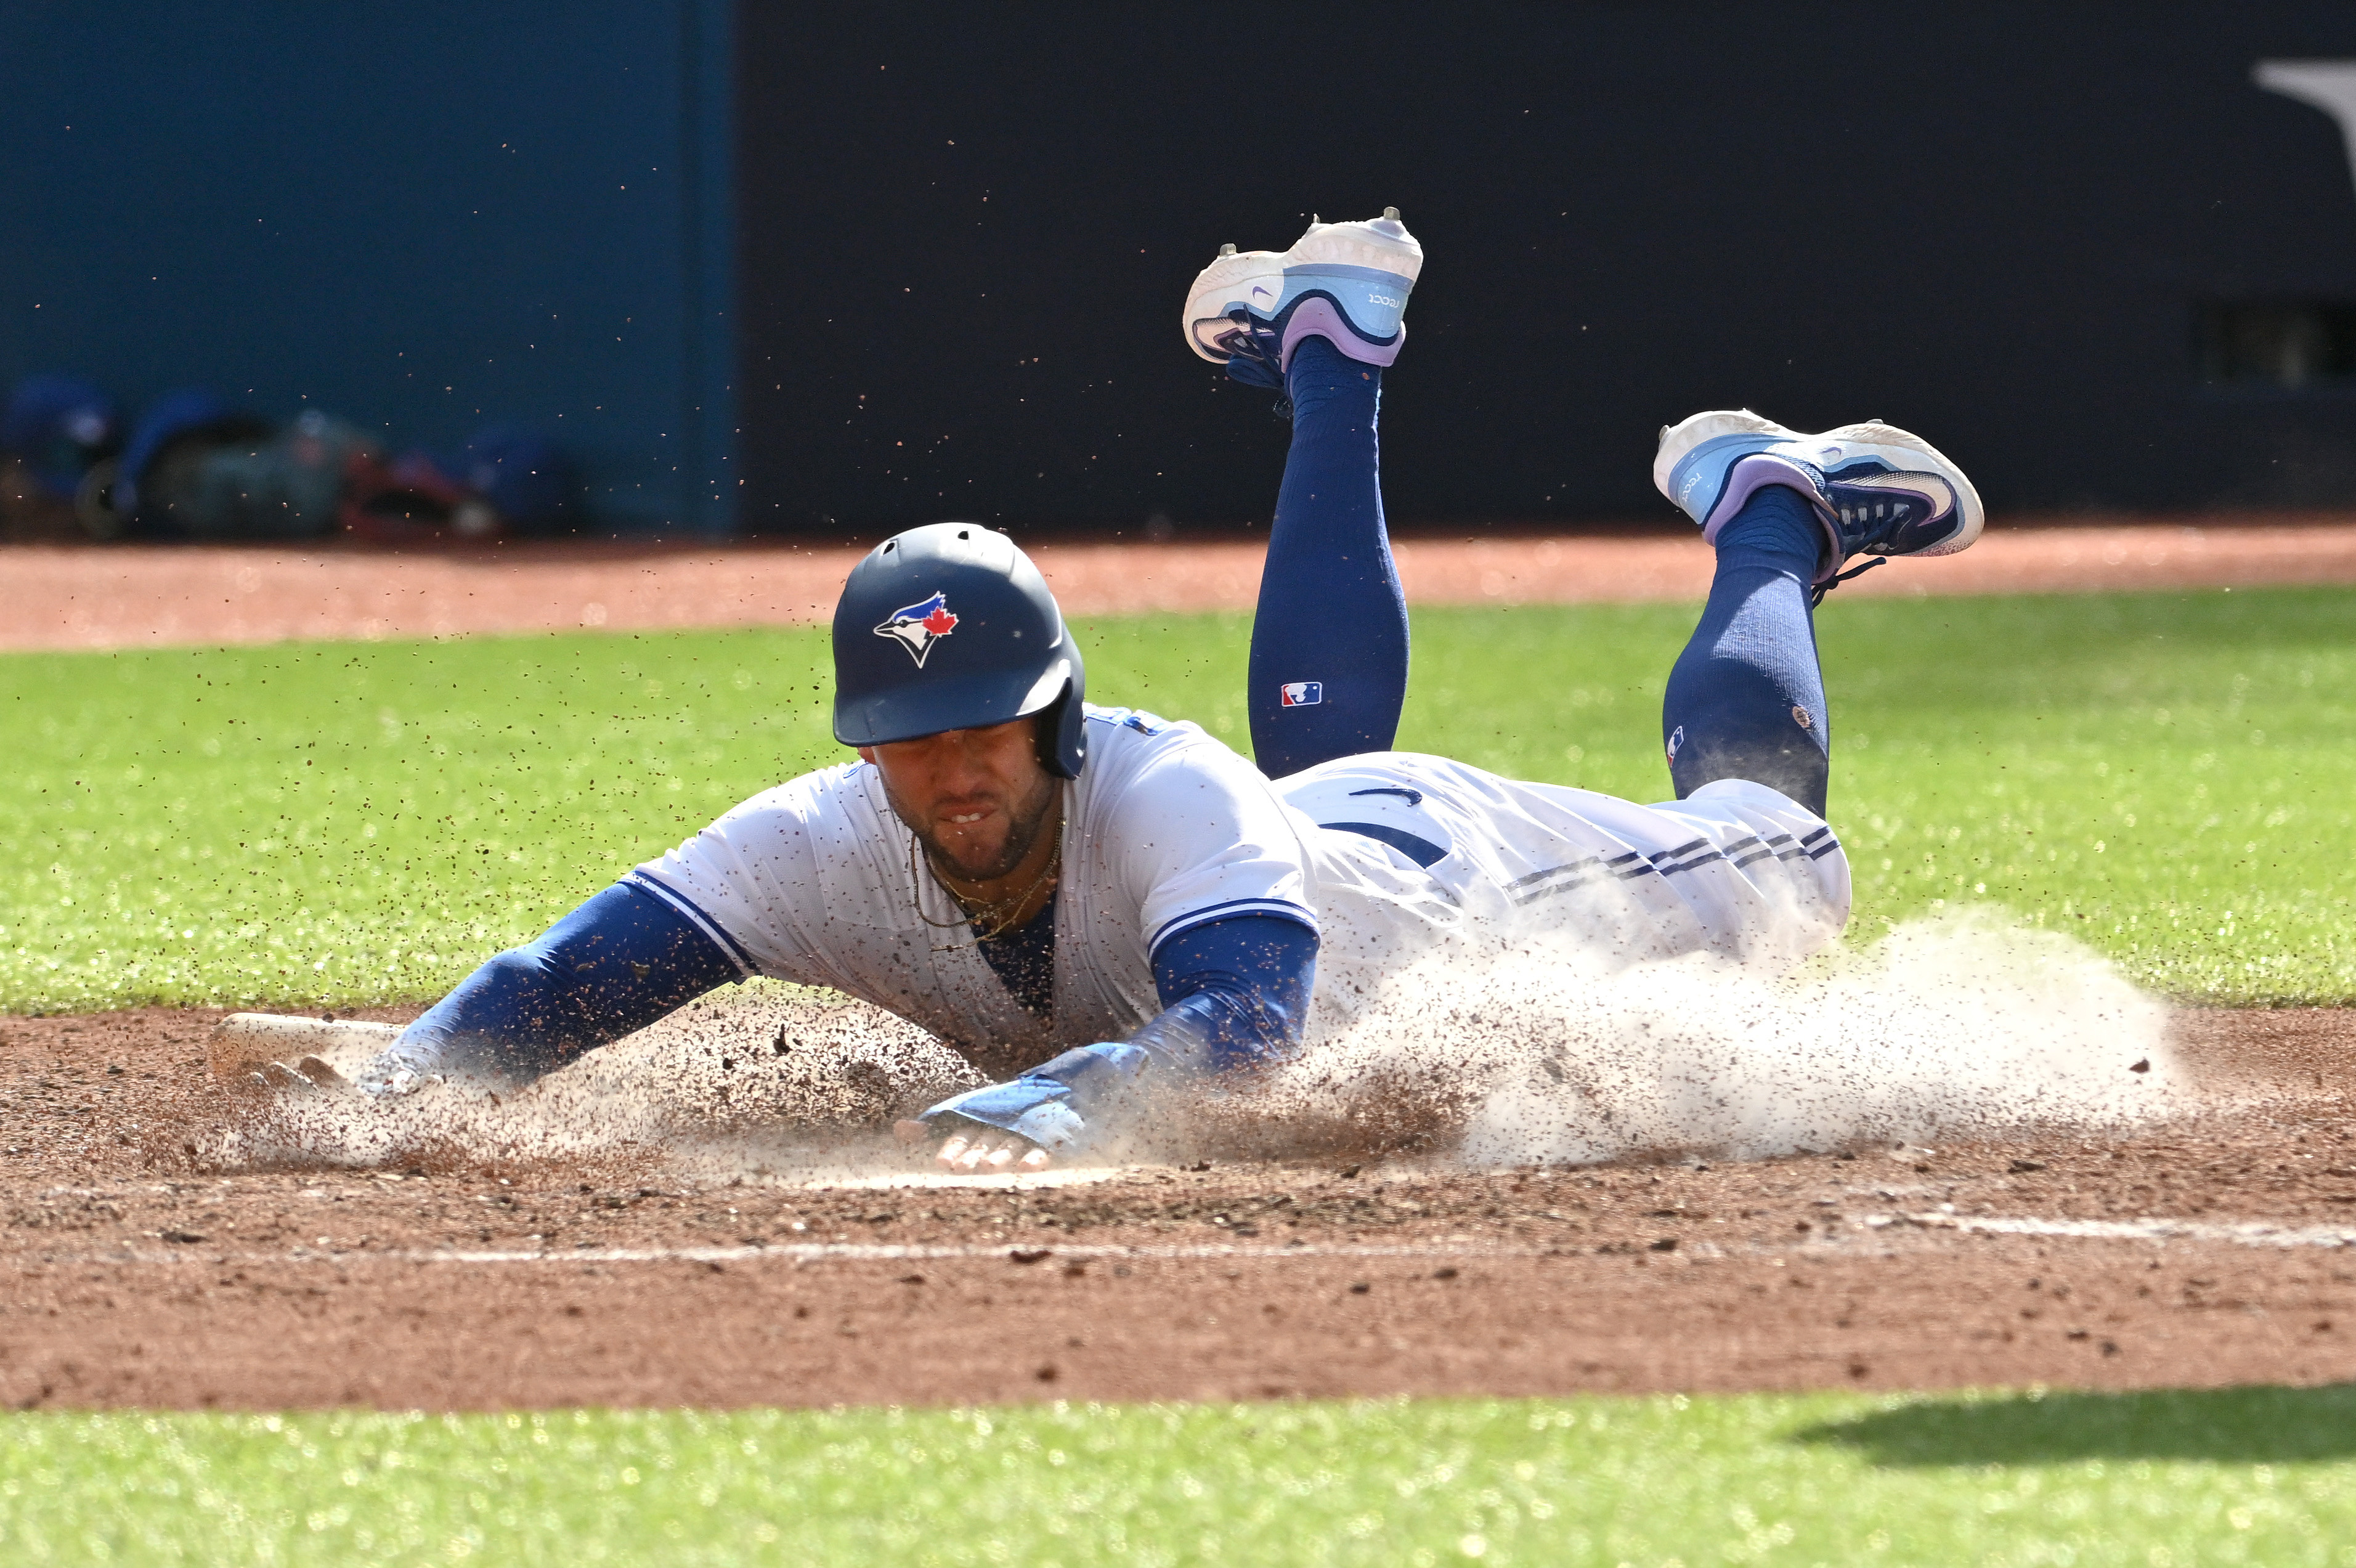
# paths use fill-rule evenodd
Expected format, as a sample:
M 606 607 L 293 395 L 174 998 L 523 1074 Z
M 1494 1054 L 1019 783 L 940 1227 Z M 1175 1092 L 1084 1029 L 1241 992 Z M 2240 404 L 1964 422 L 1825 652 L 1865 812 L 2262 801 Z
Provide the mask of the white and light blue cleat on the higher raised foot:
M 1242 381 L 1284 386 L 1293 346 L 1324 337 L 1362 365 L 1390 365 L 1407 344 L 1407 297 L 1423 247 L 1397 207 L 1359 224 L 1310 221 L 1291 250 L 1225 245 L 1185 299 L 1185 341 Z

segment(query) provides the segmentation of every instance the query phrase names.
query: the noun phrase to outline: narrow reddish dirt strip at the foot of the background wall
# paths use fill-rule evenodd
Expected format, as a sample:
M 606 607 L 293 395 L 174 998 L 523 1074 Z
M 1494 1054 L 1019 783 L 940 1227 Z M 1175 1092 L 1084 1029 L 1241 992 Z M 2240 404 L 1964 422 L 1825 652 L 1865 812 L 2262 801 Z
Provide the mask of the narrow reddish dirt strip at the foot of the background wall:
M 1041 544 L 1072 614 L 1249 610 L 1260 544 Z M 469 631 L 803 626 L 855 549 L 511 546 L 481 556 L 0 546 L 0 647 L 163 647 Z M 1418 605 L 1701 598 L 1696 537 L 1402 539 Z M 1894 560 L 1842 593 L 2076 593 L 2356 584 L 2356 523 L 1991 527 L 1948 560 Z

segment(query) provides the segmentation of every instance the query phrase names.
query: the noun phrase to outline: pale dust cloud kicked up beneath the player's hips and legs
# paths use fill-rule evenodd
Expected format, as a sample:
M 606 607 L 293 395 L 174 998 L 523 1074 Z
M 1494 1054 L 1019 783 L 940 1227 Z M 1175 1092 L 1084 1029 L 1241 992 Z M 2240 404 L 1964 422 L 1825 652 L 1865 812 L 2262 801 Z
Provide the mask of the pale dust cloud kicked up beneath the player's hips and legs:
M 2085 944 L 1984 916 L 1776 972 L 1576 937 L 1432 954 L 1253 1109 L 1472 1168 L 1765 1158 L 2120 1128 L 2189 1109 L 2168 1010 Z

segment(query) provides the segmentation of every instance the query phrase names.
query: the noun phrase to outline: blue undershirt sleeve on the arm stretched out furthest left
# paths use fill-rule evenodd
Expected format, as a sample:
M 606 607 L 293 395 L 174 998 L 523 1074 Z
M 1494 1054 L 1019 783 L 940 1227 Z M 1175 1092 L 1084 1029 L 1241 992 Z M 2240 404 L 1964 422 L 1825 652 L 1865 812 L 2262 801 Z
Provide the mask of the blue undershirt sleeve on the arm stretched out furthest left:
M 462 979 L 393 1052 L 528 1083 L 733 979 L 737 963 L 683 913 L 615 883 Z

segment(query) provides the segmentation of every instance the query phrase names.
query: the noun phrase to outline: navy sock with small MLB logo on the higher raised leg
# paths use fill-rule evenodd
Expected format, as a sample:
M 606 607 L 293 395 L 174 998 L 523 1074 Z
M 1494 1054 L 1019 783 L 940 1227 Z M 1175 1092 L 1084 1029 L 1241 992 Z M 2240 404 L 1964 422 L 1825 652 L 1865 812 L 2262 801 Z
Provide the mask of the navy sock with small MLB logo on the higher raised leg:
M 1282 779 L 1336 756 L 1388 751 L 1407 704 L 1407 593 L 1383 532 L 1376 405 L 1383 372 L 1322 337 L 1284 377 L 1284 459 L 1251 624 L 1251 746 Z

